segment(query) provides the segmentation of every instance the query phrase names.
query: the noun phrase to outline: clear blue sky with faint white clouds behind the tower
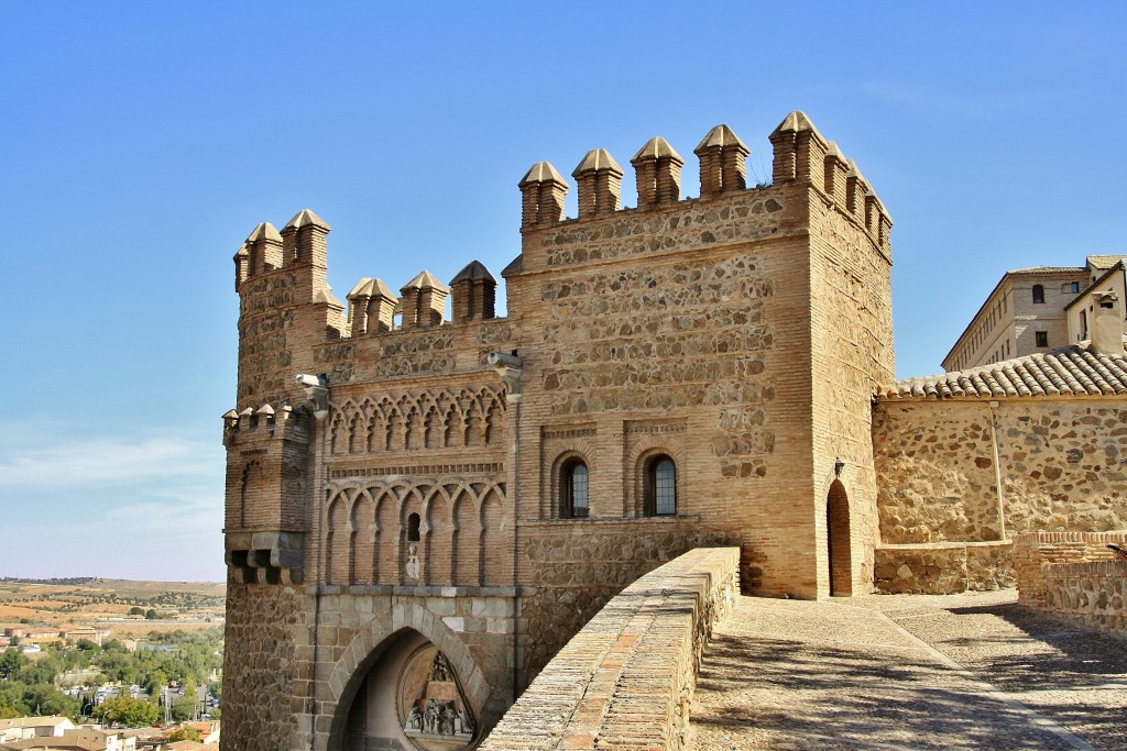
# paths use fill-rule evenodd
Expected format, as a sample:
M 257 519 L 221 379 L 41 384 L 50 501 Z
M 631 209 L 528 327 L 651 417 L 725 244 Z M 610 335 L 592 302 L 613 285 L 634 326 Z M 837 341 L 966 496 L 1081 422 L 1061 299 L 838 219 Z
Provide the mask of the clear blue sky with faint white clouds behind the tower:
M 801 109 L 895 222 L 898 374 L 938 372 L 1006 269 L 1127 252 L 1122 8 L 0 5 L 0 575 L 223 576 L 231 256 L 304 207 L 338 296 L 497 274 L 533 162 L 663 135 L 695 196 L 710 127 L 756 180 Z

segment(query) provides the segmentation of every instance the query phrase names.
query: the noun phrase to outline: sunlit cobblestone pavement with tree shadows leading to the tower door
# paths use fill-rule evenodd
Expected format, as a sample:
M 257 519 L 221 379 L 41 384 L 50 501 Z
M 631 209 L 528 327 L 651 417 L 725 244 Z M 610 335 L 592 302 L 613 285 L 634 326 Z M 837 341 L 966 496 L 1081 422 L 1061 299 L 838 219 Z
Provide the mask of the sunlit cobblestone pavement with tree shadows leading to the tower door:
M 701 665 L 695 748 L 1127 751 L 1127 642 L 1015 600 L 740 598 Z

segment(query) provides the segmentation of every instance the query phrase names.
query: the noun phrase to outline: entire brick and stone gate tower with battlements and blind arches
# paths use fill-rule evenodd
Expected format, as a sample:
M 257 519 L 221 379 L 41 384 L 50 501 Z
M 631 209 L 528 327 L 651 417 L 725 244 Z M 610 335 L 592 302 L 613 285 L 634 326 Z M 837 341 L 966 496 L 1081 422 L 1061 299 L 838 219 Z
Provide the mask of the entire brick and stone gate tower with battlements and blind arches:
M 727 126 L 520 182 L 522 252 L 397 295 L 326 283 L 300 212 L 236 254 L 229 749 L 469 748 L 638 575 L 743 551 L 745 591 L 868 591 L 890 222 L 801 113 L 746 185 Z M 447 320 L 447 301 L 452 316 Z

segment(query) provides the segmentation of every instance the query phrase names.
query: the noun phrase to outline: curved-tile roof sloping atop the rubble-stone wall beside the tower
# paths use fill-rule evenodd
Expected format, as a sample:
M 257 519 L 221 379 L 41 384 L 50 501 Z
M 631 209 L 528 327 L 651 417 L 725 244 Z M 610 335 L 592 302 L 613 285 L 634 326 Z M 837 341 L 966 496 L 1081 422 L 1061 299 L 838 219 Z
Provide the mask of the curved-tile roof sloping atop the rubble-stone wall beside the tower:
M 1027 355 L 969 370 L 897 381 L 882 400 L 1127 395 L 1127 357 L 1080 347 Z

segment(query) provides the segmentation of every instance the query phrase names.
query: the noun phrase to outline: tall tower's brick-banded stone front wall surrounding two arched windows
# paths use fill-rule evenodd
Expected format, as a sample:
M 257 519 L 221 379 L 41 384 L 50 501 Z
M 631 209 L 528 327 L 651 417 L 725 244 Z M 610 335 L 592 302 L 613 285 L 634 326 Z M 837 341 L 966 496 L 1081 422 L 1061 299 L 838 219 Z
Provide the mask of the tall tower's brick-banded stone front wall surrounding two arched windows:
M 522 519 L 560 517 L 565 456 L 589 470 L 592 518 L 645 518 L 644 466 L 665 454 L 676 516 L 738 535 L 747 591 L 816 596 L 813 557 L 775 534 L 813 539 L 810 506 L 793 502 L 814 497 L 805 190 L 525 230 L 506 272 L 524 332 Z M 554 529 L 569 524 L 584 522 Z

